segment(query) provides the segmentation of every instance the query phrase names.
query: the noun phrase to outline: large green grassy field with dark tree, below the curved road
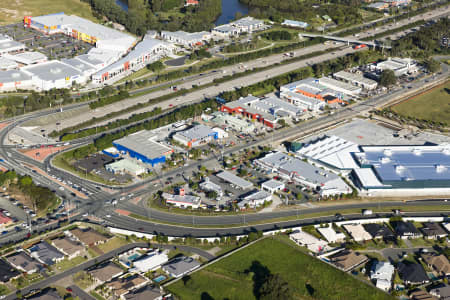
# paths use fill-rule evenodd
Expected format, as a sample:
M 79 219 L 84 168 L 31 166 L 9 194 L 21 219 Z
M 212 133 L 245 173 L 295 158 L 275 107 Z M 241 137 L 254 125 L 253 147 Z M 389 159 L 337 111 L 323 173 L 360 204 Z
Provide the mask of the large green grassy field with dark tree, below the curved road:
M 295 299 L 394 299 L 310 257 L 286 236 L 261 240 L 167 289 L 182 300 L 256 299 L 260 278 L 268 274 L 280 274 Z

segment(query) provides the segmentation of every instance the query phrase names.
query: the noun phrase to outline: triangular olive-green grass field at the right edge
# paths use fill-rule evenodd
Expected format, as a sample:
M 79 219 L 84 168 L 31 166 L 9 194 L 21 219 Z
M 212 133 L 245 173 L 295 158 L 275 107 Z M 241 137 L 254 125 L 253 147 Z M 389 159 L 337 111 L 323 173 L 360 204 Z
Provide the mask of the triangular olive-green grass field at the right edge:
M 412 97 L 392 110 L 404 116 L 449 123 L 450 81 L 424 94 Z

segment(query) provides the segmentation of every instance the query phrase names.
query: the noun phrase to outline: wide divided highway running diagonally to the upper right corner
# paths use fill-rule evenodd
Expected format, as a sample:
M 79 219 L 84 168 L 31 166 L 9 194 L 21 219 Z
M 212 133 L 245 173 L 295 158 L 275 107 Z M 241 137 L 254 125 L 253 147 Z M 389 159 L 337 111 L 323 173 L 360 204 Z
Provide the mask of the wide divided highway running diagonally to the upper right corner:
M 414 21 L 417 21 L 420 19 L 424 19 L 424 20 L 436 19 L 436 18 L 448 15 L 449 12 L 450 12 L 449 6 L 442 7 L 440 9 L 437 9 L 437 10 L 434 10 L 434 11 L 431 11 L 428 13 L 414 16 L 414 17 L 410 18 L 411 20 L 403 19 L 394 24 L 385 25 L 382 30 L 376 31 L 376 29 L 378 29 L 378 28 L 368 29 L 364 32 L 359 33 L 358 39 L 372 36 L 376 33 L 382 32 L 383 30 L 391 30 L 394 28 L 404 26 L 408 22 L 414 22 Z M 352 39 L 352 38 L 353 38 L 352 36 L 348 36 L 348 37 L 345 37 L 344 39 Z M 318 44 L 318 45 L 314 45 L 314 46 L 310 46 L 310 47 L 306 47 L 306 48 L 301 48 L 301 49 L 297 49 L 296 51 L 294 51 L 294 53 L 295 53 L 294 57 L 299 57 L 299 56 L 313 53 L 316 51 L 327 50 L 327 49 L 331 49 L 331 48 L 335 48 L 335 47 L 336 47 L 336 45 L 329 43 L 326 45 Z M 290 72 L 292 70 L 296 70 L 298 68 L 302 68 L 302 67 L 320 62 L 320 61 L 345 56 L 352 52 L 354 52 L 354 50 L 350 47 L 347 47 L 344 49 L 334 51 L 333 52 L 334 54 L 327 53 L 327 54 L 317 56 L 317 57 L 314 57 L 311 59 L 296 61 L 296 62 L 292 62 L 292 63 L 286 63 L 286 64 L 279 65 L 279 66 L 277 66 L 276 64 L 280 63 L 283 60 L 286 60 L 286 57 L 284 57 L 282 54 L 273 54 L 273 55 L 270 55 L 267 57 L 253 60 L 253 61 L 248 61 L 248 62 L 245 62 L 240 65 L 226 66 L 226 67 L 222 67 L 220 69 L 214 70 L 214 71 L 209 71 L 209 72 L 205 72 L 205 73 L 198 74 L 198 75 L 187 76 L 186 78 L 178 80 L 178 84 L 177 84 L 178 89 L 182 89 L 182 88 L 190 89 L 192 87 L 192 85 L 199 85 L 199 86 L 205 85 L 205 84 L 213 82 L 214 79 L 219 79 L 224 76 L 231 75 L 231 74 L 241 73 L 248 69 L 264 67 L 264 66 L 274 66 L 273 68 L 270 68 L 269 70 L 252 73 L 247 76 L 237 78 L 236 80 L 227 81 L 227 82 L 215 85 L 215 86 L 211 86 L 208 88 L 204 88 L 204 89 L 200 89 L 200 90 L 188 93 L 184 96 L 175 98 L 175 101 L 173 99 L 170 99 L 170 100 L 166 100 L 166 101 L 154 104 L 154 105 L 150 105 L 150 106 L 135 110 L 133 112 L 121 114 L 120 116 L 110 118 L 107 121 L 98 122 L 96 125 L 97 126 L 104 125 L 115 119 L 125 119 L 125 118 L 130 117 L 133 114 L 151 111 L 155 107 L 161 107 L 162 109 L 169 109 L 172 106 L 189 105 L 191 103 L 201 101 L 205 97 L 208 97 L 211 95 L 217 95 L 222 91 L 229 91 L 229 90 L 235 89 L 236 87 L 240 87 L 240 86 L 242 86 L 242 82 L 245 82 L 246 85 L 250 85 L 250 84 L 265 80 L 267 78 L 272 78 L 274 76 L 278 76 L 279 74 Z M 158 86 L 164 86 L 164 85 L 167 85 L 167 83 L 160 84 Z M 154 87 L 147 87 L 147 88 L 143 88 L 138 91 L 151 91 L 153 89 L 154 89 Z M 160 97 L 160 96 L 166 95 L 168 93 L 172 93 L 172 92 L 173 91 L 170 88 L 164 88 L 161 90 L 156 90 L 156 91 L 150 92 L 143 96 L 125 99 L 118 103 L 106 105 L 99 109 L 90 110 L 87 113 L 75 114 L 71 117 L 67 117 L 65 115 L 63 116 L 63 114 L 60 114 L 61 118 L 60 119 L 55 118 L 55 120 L 53 120 L 52 122 L 58 122 L 58 120 L 59 120 L 59 122 L 61 124 L 58 125 L 58 128 L 63 129 L 63 128 L 67 128 L 67 127 L 71 127 L 71 126 L 80 124 L 91 118 L 100 118 L 102 116 L 107 115 L 108 113 L 121 111 L 127 107 L 136 105 L 138 103 L 146 103 L 149 99 L 154 99 L 154 98 L 157 98 L 157 97 Z M 52 123 L 52 122 L 50 122 L 47 125 L 39 127 L 38 131 L 43 129 L 43 130 L 46 130 L 46 132 L 52 132 L 56 128 L 55 123 Z

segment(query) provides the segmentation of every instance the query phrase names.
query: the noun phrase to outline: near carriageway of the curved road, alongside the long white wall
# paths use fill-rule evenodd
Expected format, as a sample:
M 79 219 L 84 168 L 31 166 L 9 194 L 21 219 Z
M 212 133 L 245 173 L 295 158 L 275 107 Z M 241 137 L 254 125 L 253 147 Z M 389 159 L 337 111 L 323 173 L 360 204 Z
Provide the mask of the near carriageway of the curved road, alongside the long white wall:
M 400 207 L 401 208 L 401 207 Z M 393 213 L 376 213 L 372 216 L 363 216 L 361 214 L 348 214 L 343 215 L 345 220 L 359 220 L 359 219 L 373 219 L 379 217 L 392 217 Z M 404 217 L 441 217 L 442 212 L 415 212 L 415 213 L 403 213 Z M 446 217 L 446 215 L 444 215 Z M 173 237 L 195 237 L 195 238 L 206 238 L 214 237 L 218 238 L 221 236 L 236 236 L 236 235 L 246 235 L 250 232 L 255 231 L 270 231 L 280 228 L 292 228 L 297 226 L 305 226 L 311 224 L 320 224 L 325 222 L 336 222 L 338 221 L 334 215 L 322 216 L 316 218 L 291 220 L 285 222 L 271 222 L 264 223 L 260 225 L 241 225 L 236 227 L 215 227 L 215 228 L 197 228 L 190 227 L 187 225 L 167 225 L 160 223 L 151 223 L 138 219 L 132 219 L 124 216 L 111 216 L 107 226 L 122 228 L 131 231 L 145 232 L 149 234 L 162 234 L 166 236 Z

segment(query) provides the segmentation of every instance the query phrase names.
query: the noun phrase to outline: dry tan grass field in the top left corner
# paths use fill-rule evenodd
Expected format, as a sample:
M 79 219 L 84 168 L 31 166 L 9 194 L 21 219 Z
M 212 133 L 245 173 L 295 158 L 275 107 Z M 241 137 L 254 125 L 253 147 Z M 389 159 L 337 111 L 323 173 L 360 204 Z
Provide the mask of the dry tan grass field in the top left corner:
M 41 16 L 58 12 L 96 20 L 89 4 L 80 0 L 11 0 L 0 1 L 0 25 L 21 22 L 24 16 Z

